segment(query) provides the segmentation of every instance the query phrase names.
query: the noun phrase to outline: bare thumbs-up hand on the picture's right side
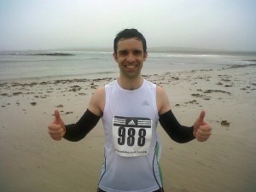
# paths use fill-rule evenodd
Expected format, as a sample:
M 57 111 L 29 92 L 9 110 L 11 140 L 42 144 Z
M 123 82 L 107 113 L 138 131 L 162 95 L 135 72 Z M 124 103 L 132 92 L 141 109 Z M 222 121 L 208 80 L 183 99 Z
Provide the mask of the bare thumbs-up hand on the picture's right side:
M 212 127 L 208 125 L 205 121 L 206 112 L 201 111 L 199 118 L 194 124 L 194 136 L 200 142 L 205 142 L 211 136 Z

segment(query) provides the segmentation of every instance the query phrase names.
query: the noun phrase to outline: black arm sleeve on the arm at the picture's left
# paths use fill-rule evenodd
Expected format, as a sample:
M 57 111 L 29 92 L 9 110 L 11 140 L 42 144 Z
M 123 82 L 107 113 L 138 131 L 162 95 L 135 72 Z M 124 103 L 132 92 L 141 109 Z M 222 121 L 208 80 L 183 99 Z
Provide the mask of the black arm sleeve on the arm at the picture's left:
M 78 142 L 83 139 L 98 123 L 100 116 L 91 113 L 89 109 L 76 124 L 65 125 L 66 133 L 64 138 L 71 142 Z

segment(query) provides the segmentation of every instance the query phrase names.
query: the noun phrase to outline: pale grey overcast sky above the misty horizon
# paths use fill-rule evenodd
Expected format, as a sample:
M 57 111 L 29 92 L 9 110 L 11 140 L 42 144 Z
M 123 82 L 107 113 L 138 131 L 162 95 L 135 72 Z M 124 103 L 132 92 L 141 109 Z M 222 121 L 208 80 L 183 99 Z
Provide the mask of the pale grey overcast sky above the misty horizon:
M 112 48 L 131 27 L 148 47 L 256 50 L 256 1 L 0 0 L 0 50 Z

